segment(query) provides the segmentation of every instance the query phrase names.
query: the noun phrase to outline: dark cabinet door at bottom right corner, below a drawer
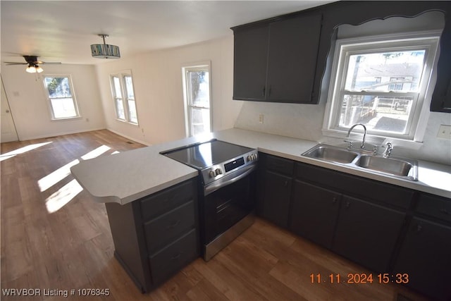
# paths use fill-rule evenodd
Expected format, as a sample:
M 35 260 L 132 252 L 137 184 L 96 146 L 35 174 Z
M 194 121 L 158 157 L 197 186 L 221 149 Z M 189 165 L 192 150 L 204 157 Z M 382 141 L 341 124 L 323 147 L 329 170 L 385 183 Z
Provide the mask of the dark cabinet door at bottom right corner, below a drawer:
M 398 254 L 394 274 L 438 300 L 451 300 L 451 228 L 414 217 Z

